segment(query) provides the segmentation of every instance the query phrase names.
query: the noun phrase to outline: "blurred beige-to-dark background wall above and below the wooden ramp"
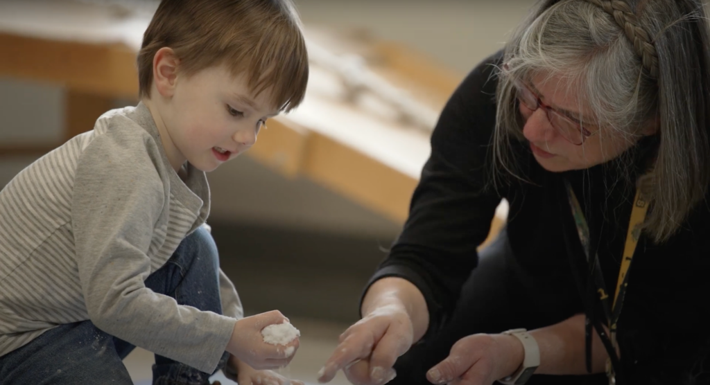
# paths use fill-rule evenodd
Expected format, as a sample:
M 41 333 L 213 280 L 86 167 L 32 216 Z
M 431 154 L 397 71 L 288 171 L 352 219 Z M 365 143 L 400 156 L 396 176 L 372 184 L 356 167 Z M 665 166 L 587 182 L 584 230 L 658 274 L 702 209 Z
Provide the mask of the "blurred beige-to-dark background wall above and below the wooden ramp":
M 418 50 L 463 77 L 502 48 L 532 0 L 295 0 L 306 28 L 372 35 Z M 0 52 L 0 60 L 2 53 Z M 48 63 L 50 65 L 50 63 Z M 0 142 L 52 141 L 64 122 L 61 87 L 0 77 Z M 126 101 L 116 101 L 123 106 Z M 0 186 L 33 157 L 0 157 Z M 360 291 L 402 223 L 249 157 L 209 174 L 222 263 L 249 313 L 349 322 Z

